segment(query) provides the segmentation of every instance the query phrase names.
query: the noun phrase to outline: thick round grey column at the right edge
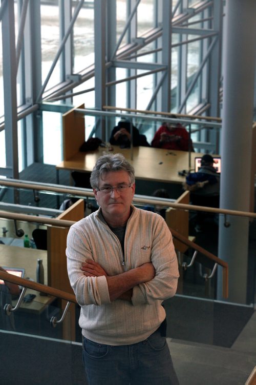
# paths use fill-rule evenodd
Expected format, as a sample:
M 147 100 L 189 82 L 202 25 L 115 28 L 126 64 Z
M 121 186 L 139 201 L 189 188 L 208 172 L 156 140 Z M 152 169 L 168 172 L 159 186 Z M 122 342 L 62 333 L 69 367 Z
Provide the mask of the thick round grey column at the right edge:
M 256 2 L 227 0 L 225 14 L 220 207 L 249 211 Z M 228 221 L 230 227 L 224 227 L 220 216 L 218 255 L 229 266 L 229 300 L 246 303 L 249 220 L 228 217 Z M 218 299 L 221 286 L 219 274 Z

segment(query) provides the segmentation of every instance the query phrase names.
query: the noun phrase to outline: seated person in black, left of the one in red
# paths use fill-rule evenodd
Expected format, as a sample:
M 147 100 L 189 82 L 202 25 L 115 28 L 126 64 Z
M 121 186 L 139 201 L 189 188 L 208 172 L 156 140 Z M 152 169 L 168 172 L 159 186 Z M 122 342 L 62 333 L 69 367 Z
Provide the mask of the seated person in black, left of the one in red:
M 129 148 L 131 146 L 131 123 L 128 120 L 120 120 L 118 125 L 113 128 L 110 136 L 110 144 Z M 150 146 L 147 143 L 146 136 L 139 133 L 139 130 L 133 126 L 133 146 Z

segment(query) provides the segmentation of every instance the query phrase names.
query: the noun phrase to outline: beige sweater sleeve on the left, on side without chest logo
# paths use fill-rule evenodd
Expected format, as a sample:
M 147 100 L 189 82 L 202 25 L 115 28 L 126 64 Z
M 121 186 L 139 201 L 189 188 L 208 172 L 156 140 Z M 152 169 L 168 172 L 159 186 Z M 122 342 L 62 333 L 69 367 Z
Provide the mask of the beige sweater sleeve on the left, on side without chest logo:
M 74 227 L 68 233 L 66 255 L 70 284 L 79 305 L 110 303 L 106 277 L 86 277 L 81 271 L 82 262 L 93 256 L 86 235 Z

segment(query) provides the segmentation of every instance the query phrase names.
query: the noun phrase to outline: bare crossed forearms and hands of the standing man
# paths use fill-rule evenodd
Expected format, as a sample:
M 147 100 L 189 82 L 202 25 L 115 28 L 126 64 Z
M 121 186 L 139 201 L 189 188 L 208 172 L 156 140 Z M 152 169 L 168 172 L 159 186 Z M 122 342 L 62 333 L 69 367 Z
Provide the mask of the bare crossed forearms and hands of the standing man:
M 99 277 L 104 275 L 108 282 L 110 300 L 131 300 L 133 288 L 139 283 L 150 281 L 155 277 L 155 268 L 151 262 L 147 262 L 135 269 L 110 276 L 102 267 L 92 259 L 87 259 L 82 264 L 81 270 L 87 277 Z

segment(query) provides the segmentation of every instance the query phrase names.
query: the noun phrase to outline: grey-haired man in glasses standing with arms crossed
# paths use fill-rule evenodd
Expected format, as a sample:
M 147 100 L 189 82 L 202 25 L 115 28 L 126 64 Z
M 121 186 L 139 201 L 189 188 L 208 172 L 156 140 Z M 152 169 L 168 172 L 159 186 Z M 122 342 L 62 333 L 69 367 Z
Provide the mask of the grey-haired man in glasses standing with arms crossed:
M 97 160 L 91 186 L 100 208 L 67 239 L 88 384 L 178 384 L 161 306 L 179 277 L 172 234 L 160 215 L 132 205 L 134 168 L 121 154 Z

